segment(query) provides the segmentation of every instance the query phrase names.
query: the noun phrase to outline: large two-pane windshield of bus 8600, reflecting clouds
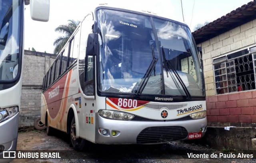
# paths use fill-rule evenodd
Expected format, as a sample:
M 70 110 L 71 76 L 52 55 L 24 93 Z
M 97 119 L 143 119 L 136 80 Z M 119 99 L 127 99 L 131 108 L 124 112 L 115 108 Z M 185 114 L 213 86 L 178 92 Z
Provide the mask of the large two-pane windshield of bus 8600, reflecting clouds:
M 115 10 L 100 9 L 97 17 L 100 91 L 204 95 L 200 60 L 187 26 Z

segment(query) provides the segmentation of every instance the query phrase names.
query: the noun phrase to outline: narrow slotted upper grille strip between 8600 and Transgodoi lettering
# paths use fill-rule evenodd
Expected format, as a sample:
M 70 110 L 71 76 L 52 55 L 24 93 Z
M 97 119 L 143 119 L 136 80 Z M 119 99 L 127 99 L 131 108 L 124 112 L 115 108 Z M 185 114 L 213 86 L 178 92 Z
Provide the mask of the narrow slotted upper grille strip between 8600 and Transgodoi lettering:
M 138 102 L 138 105 L 143 105 L 144 107 L 148 109 L 154 109 L 154 110 L 161 110 L 163 108 L 166 108 L 168 110 L 178 110 L 183 107 L 187 107 L 188 103 L 179 103 L 179 104 L 163 104 L 163 103 L 144 103 L 144 102 Z

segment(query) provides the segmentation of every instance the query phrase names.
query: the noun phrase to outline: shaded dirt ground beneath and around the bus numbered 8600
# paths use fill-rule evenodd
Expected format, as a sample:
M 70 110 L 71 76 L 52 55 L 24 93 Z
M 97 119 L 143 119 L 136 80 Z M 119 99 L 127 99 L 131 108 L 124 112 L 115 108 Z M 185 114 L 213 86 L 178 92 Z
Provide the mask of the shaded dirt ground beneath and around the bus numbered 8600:
M 212 150 L 207 145 L 174 141 L 161 145 L 92 145 L 74 151 L 65 133 L 46 131 L 18 133 L 17 151 L 65 151 L 61 159 L 15 159 L 12 163 L 254 163 L 255 159 L 188 159 L 188 153 Z M 180 152 L 181 151 L 181 152 Z M 220 152 L 220 151 L 217 151 Z M 63 155 L 62 155 L 63 156 Z

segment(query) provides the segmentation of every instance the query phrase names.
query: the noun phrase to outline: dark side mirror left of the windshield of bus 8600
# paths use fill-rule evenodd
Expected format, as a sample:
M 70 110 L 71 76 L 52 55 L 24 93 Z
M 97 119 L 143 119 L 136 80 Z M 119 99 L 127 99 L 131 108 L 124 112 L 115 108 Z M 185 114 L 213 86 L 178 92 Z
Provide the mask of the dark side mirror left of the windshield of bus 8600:
M 96 54 L 98 42 L 98 34 L 89 34 L 86 45 L 86 56 L 93 56 Z

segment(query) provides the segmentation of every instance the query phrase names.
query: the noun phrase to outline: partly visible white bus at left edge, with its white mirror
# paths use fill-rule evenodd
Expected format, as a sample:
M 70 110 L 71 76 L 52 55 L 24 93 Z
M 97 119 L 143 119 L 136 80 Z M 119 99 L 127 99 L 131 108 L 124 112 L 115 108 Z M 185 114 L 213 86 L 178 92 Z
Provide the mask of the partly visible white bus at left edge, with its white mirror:
M 16 150 L 24 54 L 24 5 L 31 18 L 48 21 L 49 0 L 0 0 L 0 158 Z M 0 159 L 0 163 L 10 162 Z

